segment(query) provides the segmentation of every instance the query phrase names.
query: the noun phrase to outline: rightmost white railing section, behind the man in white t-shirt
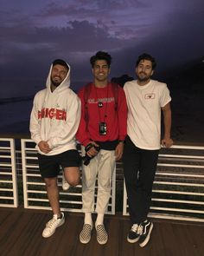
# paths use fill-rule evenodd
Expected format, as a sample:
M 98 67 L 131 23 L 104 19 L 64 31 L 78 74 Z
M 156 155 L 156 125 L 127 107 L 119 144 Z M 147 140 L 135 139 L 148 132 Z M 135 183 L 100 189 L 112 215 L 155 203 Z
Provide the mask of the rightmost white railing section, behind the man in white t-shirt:
M 204 147 L 162 148 L 149 216 L 204 222 Z M 139 206 L 138 206 L 139 207 Z M 124 185 L 123 214 L 129 214 Z

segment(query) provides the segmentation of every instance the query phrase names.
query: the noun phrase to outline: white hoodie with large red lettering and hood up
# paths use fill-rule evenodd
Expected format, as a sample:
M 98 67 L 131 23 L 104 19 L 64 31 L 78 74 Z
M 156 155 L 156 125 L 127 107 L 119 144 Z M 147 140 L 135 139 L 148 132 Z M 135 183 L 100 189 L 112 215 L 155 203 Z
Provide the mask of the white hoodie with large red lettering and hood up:
M 52 68 L 53 65 L 48 74 L 47 89 L 42 89 L 35 95 L 29 124 L 31 138 L 35 141 L 38 152 L 44 154 L 37 146 L 40 141 L 48 141 L 52 148 L 46 155 L 75 149 L 75 134 L 80 123 L 80 98 L 69 89 L 70 67 L 64 81 L 53 92 L 50 88 Z

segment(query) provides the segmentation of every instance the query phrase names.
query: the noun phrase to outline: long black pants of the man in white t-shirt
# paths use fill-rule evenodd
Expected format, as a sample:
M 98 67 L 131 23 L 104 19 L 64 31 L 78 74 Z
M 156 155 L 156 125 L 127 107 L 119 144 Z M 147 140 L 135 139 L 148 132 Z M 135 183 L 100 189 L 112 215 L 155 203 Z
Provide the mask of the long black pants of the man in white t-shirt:
M 127 136 L 124 144 L 124 179 L 131 223 L 147 219 L 159 150 L 137 148 Z

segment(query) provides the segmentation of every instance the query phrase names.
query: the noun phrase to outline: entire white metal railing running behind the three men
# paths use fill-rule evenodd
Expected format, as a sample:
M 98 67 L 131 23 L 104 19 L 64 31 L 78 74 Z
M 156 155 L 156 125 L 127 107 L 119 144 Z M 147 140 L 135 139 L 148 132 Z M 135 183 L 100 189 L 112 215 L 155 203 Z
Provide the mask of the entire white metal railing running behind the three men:
M 18 206 L 16 178 L 16 172 L 18 171 L 18 178 L 20 180 L 22 178 L 24 207 L 50 209 L 45 184 L 38 170 L 35 143 L 31 140 L 22 139 L 21 141 L 21 155 L 17 155 L 15 140 L 0 138 L 0 207 Z M 204 222 L 203 153 L 204 147 L 197 146 L 176 145 L 169 149 L 161 149 L 153 186 L 150 217 Z M 16 170 L 17 161 L 18 170 Z M 122 175 L 122 167 L 117 167 L 117 174 Z M 61 189 L 61 175 L 58 181 L 61 209 L 81 212 L 81 185 L 71 188 L 68 192 L 63 192 Z M 123 213 L 128 215 L 125 186 L 123 189 Z M 107 212 L 110 214 L 115 213 L 115 193 L 116 171 L 113 175 L 112 198 Z

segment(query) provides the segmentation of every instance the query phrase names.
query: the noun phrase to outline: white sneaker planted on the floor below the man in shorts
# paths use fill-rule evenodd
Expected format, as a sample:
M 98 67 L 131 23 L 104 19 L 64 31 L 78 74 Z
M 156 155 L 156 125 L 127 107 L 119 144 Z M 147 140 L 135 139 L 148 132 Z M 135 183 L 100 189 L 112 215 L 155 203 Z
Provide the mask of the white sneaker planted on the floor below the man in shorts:
M 54 214 L 53 219 L 49 220 L 48 223 L 46 223 L 46 226 L 41 235 L 44 238 L 50 237 L 52 234 L 54 234 L 56 228 L 58 226 L 63 225 L 64 223 L 65 223 L 64 213 L 61 213 L 61 219 L 57 219 L 57 214 Z

